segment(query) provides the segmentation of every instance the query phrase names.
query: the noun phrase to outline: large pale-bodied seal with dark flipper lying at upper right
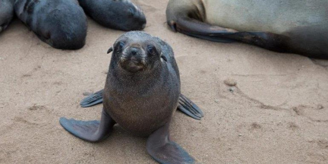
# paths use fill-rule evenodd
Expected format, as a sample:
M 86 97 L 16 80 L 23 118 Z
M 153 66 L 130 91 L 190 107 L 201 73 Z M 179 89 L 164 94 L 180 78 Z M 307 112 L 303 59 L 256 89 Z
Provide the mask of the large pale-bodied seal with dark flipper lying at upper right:
M 217 42 L 328 59 L 327 0 L 169 0 L 168 26 Z

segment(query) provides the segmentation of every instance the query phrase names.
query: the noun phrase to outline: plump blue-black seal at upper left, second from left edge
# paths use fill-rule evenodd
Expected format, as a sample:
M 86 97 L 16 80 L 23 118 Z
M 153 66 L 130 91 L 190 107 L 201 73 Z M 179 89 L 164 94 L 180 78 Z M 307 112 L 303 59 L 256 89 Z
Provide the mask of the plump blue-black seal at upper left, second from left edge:
M 16 0 L 18 18 L 42 41 L 58 49 L 80 49 L 87 17 L 77 0 Z

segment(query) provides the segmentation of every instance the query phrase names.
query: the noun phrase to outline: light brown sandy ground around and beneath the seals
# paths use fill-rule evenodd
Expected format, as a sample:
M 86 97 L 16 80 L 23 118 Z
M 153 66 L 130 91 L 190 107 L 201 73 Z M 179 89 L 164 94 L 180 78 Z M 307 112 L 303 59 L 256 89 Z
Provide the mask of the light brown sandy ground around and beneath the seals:
M 136 0 L 144 31 L 167 41 L 182 93 L 205 117 L 176 112 L 173 140 L 203 164 L 328 164 L 328 62 L 242 43 L 216 43 L 168 30 L 167 0 Z M 63 51 L 19 20 L 0 33 L 1 164 L 155 164 L 146 138 L 115 126 L 100 143 L 66 132 L 59 117 L 99 119 L 81 108 L 84 92 L 103 88 L 107 49 L 123 32 L 88 19 L 86 45 Z M 236 87 L 224 83 L 233 79 Z

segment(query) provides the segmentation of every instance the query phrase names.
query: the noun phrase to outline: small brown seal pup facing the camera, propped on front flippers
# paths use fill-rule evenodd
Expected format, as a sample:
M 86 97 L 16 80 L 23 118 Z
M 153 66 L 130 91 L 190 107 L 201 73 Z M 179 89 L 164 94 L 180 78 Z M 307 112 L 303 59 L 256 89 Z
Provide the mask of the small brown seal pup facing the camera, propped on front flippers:
M 181 106 L 172 48 L 158 37 L 134 31 L 121 35 L 111 51 L 100 121 L 62 117 L 60 124 L 81 139 L 98 142 L 117 123 L 134 134 L 149 135 L 146 149 L 157 162 L 194 164 L 196 160 L 169 137 L 172 115 Z

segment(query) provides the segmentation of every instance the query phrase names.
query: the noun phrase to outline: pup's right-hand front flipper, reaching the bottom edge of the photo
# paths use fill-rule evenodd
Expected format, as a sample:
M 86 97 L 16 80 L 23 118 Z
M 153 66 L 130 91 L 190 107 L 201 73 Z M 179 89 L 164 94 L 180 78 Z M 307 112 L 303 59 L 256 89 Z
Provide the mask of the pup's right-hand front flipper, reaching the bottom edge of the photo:
M 196 162 L 182 147 L 170 141 L 169 123 L 150 134 L 146 149 L 160 164 L 195 164 Z

